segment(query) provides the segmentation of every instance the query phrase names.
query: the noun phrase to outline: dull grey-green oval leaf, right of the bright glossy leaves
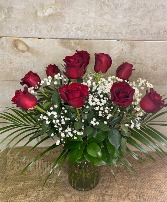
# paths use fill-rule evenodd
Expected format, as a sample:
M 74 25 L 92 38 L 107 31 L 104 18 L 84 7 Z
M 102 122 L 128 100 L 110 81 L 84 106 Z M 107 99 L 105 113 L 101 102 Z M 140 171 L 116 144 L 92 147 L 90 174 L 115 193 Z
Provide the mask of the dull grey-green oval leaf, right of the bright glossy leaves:
M 121 145 L 121 134 L 116 128 L 112 128 L 108 134 L 110 143 L 118 149 Z

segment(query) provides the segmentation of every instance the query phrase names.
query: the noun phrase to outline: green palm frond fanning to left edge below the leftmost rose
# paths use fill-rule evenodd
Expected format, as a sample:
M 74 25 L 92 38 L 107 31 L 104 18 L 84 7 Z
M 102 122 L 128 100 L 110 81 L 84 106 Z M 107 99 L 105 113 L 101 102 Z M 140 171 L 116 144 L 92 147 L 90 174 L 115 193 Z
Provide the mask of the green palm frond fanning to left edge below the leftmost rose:
M 7 108 L 6 111 L 0 113 L 0 118 L 3 119 L 8 124 L 7 126 L 0 128 L 0 134 L 7 133 L 7 136 L 4 139 L 2 139 L 0 144 L 3 143 L 8 138 L 12 137 L 12 139 L 7 144 L 9 145 L 17 138 L 20 138 L 21 136 L 21 138 L 11 147 L 8 154 L 19 142 L 21 142 L 27 137 L 35 136 L 35 134 L 39 130 L 39 126 L 37 127 L 34 116 L 29 111 L 21 111 L 15 108 Z M 24 136 L 22 137 L 22 135 Z M 31 141 L 33 139 L 35 138 L 31 138 Z M 31 141 L 28 141 L 26 145 L 29 144 Z M 24 146 L 21 147 L 16 156 L 18 156 L 18 154 L 24 148 Z

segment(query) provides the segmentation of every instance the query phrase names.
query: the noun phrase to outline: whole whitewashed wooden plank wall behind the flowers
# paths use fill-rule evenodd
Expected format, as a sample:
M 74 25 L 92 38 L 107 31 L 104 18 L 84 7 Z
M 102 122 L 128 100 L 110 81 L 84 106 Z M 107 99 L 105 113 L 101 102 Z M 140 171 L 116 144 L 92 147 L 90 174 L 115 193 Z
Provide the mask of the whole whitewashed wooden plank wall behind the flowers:
M 130 62 L 133 78 L 167 95 L 167 0 L 1 0 L 0 111 L 29 70 L 44 77 L 75 50 L 90 52 L 92 65 L 95 52 L 109 53 L 108 74 Z

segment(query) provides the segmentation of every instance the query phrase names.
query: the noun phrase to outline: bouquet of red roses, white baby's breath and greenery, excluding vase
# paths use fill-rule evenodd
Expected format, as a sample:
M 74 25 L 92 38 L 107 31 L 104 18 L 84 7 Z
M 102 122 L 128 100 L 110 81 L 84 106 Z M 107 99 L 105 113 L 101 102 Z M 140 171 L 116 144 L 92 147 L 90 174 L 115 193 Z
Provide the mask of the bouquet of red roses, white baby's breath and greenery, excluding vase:
M 116 76 L 106 79 L 104 74 L 111 68 L 111 57 L 104 53 L 95 54 L 94 73 L 87 73 L 89 60 L 87 51 L 76 51 L 65 57 L 63 71 L 55 64 L 48 65 L 47 78 L 43 80 L 38 74 L 28 72 L 21 79 L 24 90 L 16 90 L 12 98 L 18 109 L 7 108 L 0 114 L 7 123 L 0 133 L 7 133 L 4 140 L 13 137 L 8 144 L 15 141 L 8 153 L 27 137 L 29 140 L 16 156 L 37 137 L 40 137 L 39 142 L 25 158 L 42 142 L 49 138 L 53 140 L 53 144 L 22 172 L 59 146 L 63 150 L 55 159 L 47 179 L 58 166 L 62 168 L 67 159 L 72 163 L 86 160 L 97 166 L 108 165 L 111 170 L 112 166 L 121 164 L 133 170 L 127 154 L 136 160 L 142 159 L 134 149 L 152 160 L 154 157 L 143 146 L 160 157 L 165 156 L 160 145 L 167 146 L 167 137 L 152 127 L 167 125 L 156 121 L 167 113 L 160 112 L 167 106 L 165 99 L 145 79 L 129 79 L 132 64 L 121 64 Z

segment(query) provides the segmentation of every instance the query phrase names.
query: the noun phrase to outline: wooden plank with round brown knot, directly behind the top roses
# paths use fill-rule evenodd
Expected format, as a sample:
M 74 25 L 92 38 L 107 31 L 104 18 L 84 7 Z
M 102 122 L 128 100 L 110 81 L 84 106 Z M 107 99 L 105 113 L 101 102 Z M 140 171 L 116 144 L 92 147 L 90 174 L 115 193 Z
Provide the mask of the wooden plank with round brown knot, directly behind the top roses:
M 156 85 L 167 85 L 167 41 L 114 41 L 114 40 L 62 40 L 32 38 L 0 39 L 0 80 L 20 79 L 30 70 L 45 77 L 45 68 L 55 63 L 62 68 L 66 55 L 75 50 L 87 50 L 91 54 L 88 67 L 93 70 L 94 53 L 108 53 L 113 65 L 107 75 L 115 75 L 123 62 L 134 65 L 133 78 L 145 78 Z

